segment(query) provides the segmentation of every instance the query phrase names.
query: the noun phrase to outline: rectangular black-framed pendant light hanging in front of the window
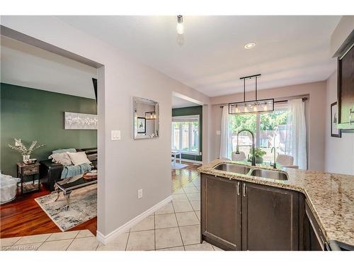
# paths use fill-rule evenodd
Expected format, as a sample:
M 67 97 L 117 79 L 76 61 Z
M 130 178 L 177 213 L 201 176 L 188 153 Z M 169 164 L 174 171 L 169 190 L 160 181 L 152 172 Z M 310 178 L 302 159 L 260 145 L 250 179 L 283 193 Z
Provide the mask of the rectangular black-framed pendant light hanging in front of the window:
M 229 114 L 245 114 L 245 113 L 267 113 L 274 111 L 274 99 L 257 99 L 257 78 L 261 74 L 254 74 L 248 77 L 240 77 L 244 79 L 244 101 L 229 103 Z M 246 101 L 246 79 L 256 79 L 256 100 Z

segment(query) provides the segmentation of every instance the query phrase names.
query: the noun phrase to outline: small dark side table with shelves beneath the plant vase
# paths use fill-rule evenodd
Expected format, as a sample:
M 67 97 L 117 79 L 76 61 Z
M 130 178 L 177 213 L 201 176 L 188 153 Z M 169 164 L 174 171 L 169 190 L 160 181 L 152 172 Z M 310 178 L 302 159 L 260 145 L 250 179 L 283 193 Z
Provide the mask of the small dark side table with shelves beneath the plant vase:
M 33 185 L 28 189 L 23 189 L 24 178 L 31 176 Z M 35 186 L 35 177 L 38 177 L 38 187 Z M 38 192 L 40 190 L 40 163 L 36 162 L 32 165 L 26 165 L 24 162 L 17 163 L 17 177 L 21 179 L 21 194 Z

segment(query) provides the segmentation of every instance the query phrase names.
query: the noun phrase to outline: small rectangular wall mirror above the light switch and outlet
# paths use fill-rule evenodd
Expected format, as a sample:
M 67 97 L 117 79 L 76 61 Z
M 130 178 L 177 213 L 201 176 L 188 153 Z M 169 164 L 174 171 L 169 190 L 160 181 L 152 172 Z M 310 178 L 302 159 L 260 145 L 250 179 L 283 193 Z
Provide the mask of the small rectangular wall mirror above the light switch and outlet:
M 133 97 L 134 139 L 159 137 L 159 103 Z

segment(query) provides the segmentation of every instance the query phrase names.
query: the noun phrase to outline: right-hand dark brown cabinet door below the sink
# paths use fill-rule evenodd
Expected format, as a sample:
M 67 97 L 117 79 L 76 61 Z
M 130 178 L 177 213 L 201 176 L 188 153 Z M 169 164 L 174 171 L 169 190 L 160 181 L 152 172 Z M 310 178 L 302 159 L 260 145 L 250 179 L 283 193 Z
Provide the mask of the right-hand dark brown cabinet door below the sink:
M 299 194 L 244 182 L 242 250 L 299 250 Z

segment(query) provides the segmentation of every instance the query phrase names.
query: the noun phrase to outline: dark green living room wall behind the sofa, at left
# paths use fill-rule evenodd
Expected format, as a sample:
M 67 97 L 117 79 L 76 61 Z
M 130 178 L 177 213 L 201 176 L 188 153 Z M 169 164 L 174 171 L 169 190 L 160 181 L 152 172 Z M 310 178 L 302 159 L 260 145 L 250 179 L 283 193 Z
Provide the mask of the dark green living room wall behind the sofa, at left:
M 20 153 L 7 146 L 15 144 L 13 138 L 22 138 L 26 145 L 32 140 L 45 144 L 31 155 L 39 161 L 59 148 L 97 147 L 96 130 L 64 130 L 64 111 L 96 114 L 96 100 L 5 83 L 0 84 L 0 95 L 0 165 L 4 174 L 16 177 L 16 163 L 22 160 Z

